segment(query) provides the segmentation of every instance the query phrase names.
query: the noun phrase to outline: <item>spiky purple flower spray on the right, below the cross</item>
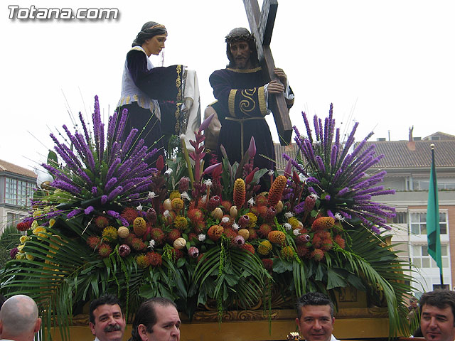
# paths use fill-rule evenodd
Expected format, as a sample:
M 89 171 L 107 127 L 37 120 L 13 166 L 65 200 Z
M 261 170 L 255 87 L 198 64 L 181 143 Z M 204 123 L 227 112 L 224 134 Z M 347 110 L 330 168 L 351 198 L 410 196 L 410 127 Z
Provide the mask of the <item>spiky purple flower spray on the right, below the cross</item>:
M 387 218 L 395 217 L 395 209 L 372 198 L 377 195 L 393 194 L 395 190 L 385 190 L 378 185 L 384 178 L 385 171 L 368 173 L 368 169 L 383 157 L 375 156 L 375 146 L 365 147 L 373 133 L 354 144 L 356 123 L 344 144 L 340 141 L 340 130 L 335 129 L 333 106 L 324 120 L 314 116 L 314 136 L 311 134 L 309 121 L 302 113 L 308 133 L 307 138 L 296 134 L 295 141 L 304 158 L 309 163 L 308 171 L 298 167 L 298 163 L 289 156 L 293 166 L 304 175 L 309 185 L 309 195 L 301 211 L 309 212 L 314 202 L 321 197 L 321 209 L 329 217 L 350 219 L 355 217 L 372 231 L 379 233 L 380 228 L 390 229 Z M 294 130 L 297 132 L 296 127 Z M 320 258 L 320 255 L 316 258 Z

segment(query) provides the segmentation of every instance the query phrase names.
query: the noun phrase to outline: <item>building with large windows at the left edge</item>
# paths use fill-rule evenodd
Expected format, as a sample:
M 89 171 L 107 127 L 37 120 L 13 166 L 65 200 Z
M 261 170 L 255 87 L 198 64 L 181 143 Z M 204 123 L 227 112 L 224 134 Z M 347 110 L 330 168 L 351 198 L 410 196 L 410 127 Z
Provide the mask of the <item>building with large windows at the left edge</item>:
M 36 174 L 0 160 L 0 234 L 25 217 L 36 188 Z

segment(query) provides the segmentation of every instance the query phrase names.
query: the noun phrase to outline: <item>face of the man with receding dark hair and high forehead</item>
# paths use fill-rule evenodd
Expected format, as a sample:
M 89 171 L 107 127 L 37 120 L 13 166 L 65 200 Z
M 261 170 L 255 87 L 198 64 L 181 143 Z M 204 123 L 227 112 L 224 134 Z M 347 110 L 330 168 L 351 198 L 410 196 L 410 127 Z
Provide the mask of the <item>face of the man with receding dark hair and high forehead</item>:
M 181 320 L 178 311 L 173 305 L 154 306 L 156 323 L 153 332 L 147 332 L 144 325 L 139 325 L 139 335 L 143 341 L 179 341 Z

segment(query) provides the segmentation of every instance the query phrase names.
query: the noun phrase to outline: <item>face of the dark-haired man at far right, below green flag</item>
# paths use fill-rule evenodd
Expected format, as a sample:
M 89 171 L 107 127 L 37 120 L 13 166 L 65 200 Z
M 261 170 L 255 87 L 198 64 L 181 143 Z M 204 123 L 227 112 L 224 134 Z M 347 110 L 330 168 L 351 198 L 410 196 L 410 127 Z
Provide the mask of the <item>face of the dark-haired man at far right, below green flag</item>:
M 444 309 L 424 304 L 420 316 L 420 328 L 425 340 L 455 340 L 454 314 L 449 305 Z

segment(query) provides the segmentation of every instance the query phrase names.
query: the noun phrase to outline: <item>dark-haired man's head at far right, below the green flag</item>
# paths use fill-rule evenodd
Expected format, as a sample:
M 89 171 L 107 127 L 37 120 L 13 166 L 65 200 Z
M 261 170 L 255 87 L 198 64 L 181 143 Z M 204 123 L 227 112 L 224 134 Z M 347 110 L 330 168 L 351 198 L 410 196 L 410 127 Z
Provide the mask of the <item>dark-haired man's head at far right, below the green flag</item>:
M 437 289 L 420 298 L 420 328 L 427 341 L 455 340 L 455 292 Z

